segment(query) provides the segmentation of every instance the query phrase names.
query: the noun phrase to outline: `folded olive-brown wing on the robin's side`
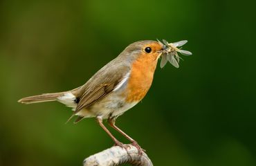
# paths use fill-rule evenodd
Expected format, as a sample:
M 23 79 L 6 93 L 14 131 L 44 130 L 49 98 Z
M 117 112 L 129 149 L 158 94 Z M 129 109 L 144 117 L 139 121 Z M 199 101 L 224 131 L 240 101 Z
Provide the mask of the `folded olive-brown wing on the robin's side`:
M 115 65 L 109 63 L 100 69 L 91 79 L 80 89 L 79 102 L 74 113 L 92 106 L 104 96 L 109 94 L 120 83 L 125 75 L 129 73 L 128 66 Z

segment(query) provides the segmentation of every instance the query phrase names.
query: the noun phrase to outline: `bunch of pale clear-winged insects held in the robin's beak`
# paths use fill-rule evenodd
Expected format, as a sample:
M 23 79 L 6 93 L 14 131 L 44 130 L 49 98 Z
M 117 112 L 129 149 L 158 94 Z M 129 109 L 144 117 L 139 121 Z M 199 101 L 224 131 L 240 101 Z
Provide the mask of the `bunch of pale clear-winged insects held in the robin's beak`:
M 165 64 L 169 61 L 174 67 L 179 68 L 179 61 L 181 57 L 179 57 L 178 53 L 182 55 L 192 55 L 192 53 L 188 50 L 181 50 L 180 48 L 184 44 L 188 42 L 188 40 L 182 40 L 180 42 L 168 43 L 165 39 L 163 39 L 163 43 L 158 40 L 159 43 L 163 44 L 167 49 L 163 51 L 161 55 L 161 68 L 165 66 Z

